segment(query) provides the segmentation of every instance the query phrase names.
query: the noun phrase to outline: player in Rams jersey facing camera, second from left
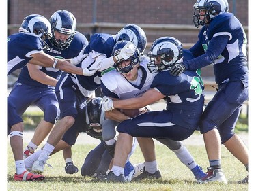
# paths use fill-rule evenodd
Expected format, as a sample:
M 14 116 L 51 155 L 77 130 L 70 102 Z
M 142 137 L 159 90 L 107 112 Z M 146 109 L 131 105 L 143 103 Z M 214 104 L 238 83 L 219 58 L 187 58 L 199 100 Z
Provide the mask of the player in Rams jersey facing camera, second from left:
M 58 59 L 74 58 L 83 46 L 88 45 L 84 35 L 76 31 L 76 18 L 67 10 L 58 10 L 50 18 L 52 37 L 46 39 L 44 51 Z M 29 105 L 37 105 L 44 112 L 44 119 L 35 129 L 33 138 L 24 151 L 25 158 L 42 143 L 53 128 L 59 115 L 55 86 L 61 75 L 59 69 L 28 64 L 23 67 L 8 97 L 21 116 Z

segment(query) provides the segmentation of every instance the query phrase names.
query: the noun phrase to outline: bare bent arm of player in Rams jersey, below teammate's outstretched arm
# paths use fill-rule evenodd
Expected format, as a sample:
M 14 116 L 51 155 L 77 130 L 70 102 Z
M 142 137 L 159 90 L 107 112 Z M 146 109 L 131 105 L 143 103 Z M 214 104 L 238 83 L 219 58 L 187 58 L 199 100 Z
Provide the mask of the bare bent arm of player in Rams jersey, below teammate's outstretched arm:
M 29 71 L 29 75 L 33 80 L 36 80 L 42 84 L 50 85 L 50 86 L 56 86 L 58 80 L 55 78 L 47 75 L 46 73 L 42 72 L 40 70 L 40 66 L 38 65 L 27 65 L 27 69 Z

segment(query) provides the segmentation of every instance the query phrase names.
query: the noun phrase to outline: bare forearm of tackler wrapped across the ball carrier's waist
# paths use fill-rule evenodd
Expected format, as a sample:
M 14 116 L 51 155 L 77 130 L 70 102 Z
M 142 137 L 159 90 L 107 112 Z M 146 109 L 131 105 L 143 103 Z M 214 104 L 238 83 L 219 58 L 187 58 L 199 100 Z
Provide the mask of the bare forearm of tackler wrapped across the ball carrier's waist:
M 160 99 L 164 98 L 165 95 L 160 93 L 155 88 L 150 88 L 147 90 L 141 97 L 131 98 L 131 99 L 124 99 L 124 100 L 114 100 L 113 106 L 114 108 L 119 109 L 139 109 L 142 107 L 146 107 Z

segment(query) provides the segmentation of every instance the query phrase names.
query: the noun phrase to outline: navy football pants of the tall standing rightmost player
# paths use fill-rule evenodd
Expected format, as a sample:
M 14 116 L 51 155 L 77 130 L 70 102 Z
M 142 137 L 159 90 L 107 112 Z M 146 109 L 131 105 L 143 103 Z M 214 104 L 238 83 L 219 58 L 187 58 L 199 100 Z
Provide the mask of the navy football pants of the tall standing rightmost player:
M 242 82 L 228 82 L 220 86 L 203 111 L 201 133 L 218 128 L 221 141 L 225 143 L 233 136 L 242 103 L 247 99 L 248 87 L 244 88 Z

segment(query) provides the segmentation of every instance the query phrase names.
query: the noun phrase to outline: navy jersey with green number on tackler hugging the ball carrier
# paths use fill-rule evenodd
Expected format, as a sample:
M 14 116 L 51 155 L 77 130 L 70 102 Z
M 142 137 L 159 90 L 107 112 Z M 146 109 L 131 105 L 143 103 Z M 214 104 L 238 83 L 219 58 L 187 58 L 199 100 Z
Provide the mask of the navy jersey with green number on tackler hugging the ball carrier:
M 154 77 L 151 88 L 166 95 L 167 110 L 173 114 L 173 123 L 187 128 L 197 126 L 203 111 L 203 82 L 199 71 L 184 71 L 173 76 L 162 71 Z

